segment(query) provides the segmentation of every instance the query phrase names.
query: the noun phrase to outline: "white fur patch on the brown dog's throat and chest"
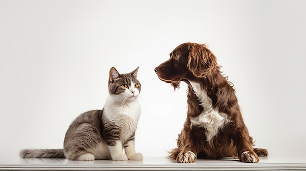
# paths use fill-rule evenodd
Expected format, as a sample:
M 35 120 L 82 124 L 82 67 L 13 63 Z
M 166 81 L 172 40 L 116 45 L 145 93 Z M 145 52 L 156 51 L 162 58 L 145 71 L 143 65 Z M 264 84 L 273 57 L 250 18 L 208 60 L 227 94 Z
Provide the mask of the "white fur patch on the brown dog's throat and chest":
M 208 97 L 207 92 L 202 90 L 197 82 L 190 82 L 197 95 L 200 105 L 203 107 L 202 113 L 197 117 L 190 119 L 191 126 L 199 126 L 206 129 L 206 141 L 211 142 L 213 137 L 219 133 L 225 123 L 228 122 L 227 115 L 214 109 L 212 100 Z

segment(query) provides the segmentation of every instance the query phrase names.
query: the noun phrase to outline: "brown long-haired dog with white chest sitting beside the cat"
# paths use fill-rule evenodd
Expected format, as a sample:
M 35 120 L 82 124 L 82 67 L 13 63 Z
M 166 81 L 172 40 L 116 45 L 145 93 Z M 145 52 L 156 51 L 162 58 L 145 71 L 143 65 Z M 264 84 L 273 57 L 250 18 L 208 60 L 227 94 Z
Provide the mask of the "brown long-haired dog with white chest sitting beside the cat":
M 174 89 L 181 81 L 188 85 L 187 119 L 168 158 L 194 163 L 197 158 L 238 157 L 240 162 L 257 163 L 258 156 L 268 155 L 266 149 L 253 148 L 233 84 L 205 44 L 177 46 L 154 71 Z

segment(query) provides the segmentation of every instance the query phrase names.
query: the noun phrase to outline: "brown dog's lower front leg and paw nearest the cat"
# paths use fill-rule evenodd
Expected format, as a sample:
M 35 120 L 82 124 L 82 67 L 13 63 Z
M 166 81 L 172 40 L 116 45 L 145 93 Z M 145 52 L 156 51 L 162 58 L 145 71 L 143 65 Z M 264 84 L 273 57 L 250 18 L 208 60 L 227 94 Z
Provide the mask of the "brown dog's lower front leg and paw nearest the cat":
M 178 151 L 176 162 L 177 163 L 194 163 L 197 160 L 197 151 L 194 146 L 193 140 L 185 135 L 190 135 L 191 133 L 185 133 L 184 130 L 179 134 L 177 141 Z

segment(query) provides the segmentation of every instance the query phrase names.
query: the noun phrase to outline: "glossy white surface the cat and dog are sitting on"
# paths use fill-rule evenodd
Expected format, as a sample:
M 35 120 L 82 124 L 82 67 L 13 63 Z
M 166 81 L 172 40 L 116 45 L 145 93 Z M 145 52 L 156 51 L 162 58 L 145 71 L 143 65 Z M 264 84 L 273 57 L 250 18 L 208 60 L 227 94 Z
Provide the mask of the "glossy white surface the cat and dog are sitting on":
M 296 157 L 297 158 L 297 157 Z M 0 164 L 0 170 L 213 170 L 213 171 L 306 171 L 306 157 L 260 157 L 259 163 L 241 163 L 236 158 L 198 159 L 193 164 L 179 164 L 164 157 L 145 157 L 143 161 L 71 161 L 65 158 L 20 158 L 17 163 Z

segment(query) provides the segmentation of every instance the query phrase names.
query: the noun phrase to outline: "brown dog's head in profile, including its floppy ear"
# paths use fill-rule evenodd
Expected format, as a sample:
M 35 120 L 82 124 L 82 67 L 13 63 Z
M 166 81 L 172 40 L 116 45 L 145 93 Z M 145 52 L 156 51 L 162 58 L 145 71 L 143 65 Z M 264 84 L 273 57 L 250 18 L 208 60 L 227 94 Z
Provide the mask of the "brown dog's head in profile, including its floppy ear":
M 154 71 L 160 80 L 179 88 L 180 81 L 191 77 L 205 78 L 217 68 L 217 58 L 205 44 L 183 43 Z

